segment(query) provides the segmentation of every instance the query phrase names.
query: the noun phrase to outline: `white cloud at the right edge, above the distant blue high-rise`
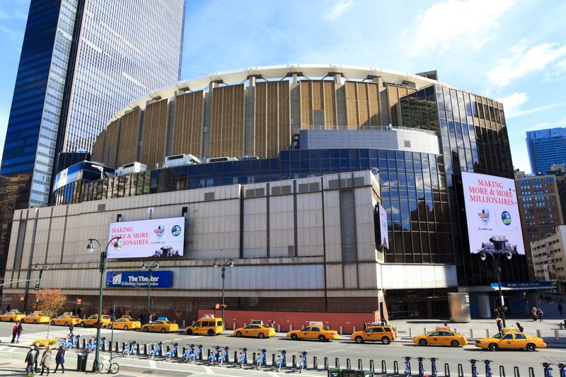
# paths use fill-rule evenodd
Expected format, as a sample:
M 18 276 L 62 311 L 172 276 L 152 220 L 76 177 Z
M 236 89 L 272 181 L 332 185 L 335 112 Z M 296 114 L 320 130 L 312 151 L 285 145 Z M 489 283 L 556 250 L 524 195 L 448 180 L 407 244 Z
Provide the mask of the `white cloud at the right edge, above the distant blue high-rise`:
M 511 52 L 511 57 L 500 59 L 499 65 L 487 72 L 487 77 L 497 86 L 507 86 L 514 79 L 543 70 L 547 64 L 566 56 L 566 45 L 543 43 L 526 50 L 523 42 Z

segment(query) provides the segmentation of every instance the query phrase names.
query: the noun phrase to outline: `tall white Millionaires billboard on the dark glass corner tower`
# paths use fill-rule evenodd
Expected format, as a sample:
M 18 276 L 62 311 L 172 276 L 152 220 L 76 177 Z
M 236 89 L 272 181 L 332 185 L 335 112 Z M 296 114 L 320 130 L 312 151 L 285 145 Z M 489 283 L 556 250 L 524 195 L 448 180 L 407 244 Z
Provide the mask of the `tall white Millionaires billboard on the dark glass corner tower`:
M 515 181 L 462 172 L 470 253 L 524 255 Z

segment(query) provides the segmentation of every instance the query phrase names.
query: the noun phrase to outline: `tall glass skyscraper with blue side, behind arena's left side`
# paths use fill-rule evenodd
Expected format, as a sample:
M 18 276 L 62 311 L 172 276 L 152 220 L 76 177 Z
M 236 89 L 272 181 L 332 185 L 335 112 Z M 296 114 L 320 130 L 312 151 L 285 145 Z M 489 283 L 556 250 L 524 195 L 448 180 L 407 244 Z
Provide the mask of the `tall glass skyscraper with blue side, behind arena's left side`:
M 180 78 L 185 0 L 32 0 L 0 175 L 47 204 L 59 152 L 90 151 L 127 103 Z M 110 94 L 111 93 L 111 94 Z

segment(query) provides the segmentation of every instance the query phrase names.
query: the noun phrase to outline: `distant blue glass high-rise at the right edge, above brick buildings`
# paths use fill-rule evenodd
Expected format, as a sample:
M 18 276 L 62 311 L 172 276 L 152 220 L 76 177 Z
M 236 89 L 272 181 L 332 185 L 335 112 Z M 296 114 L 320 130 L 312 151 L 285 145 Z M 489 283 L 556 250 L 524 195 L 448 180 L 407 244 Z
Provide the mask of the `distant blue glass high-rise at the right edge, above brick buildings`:
M 546 173 L 550 167 L 566 163 L 566 128 L 538 129 L 526 133 L 531 171 Z

